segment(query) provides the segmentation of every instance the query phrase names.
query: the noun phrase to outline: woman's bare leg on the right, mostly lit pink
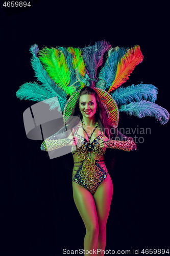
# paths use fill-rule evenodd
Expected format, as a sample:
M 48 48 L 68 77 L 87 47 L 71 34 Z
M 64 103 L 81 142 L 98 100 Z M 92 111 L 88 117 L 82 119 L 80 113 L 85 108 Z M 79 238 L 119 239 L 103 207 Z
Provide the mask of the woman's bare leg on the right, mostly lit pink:
M 104 253 L 102 254 L 102 250 L 105 250 L 106 247 L 106 223 L 109 216 L 112 195 L 113 184 L 108 174 L 106 180 L 96 189 L 93 196 L 99 223 L 98 249 L 101 249 L 101 252 L 98 252 L 98 256 L 104 255 Z

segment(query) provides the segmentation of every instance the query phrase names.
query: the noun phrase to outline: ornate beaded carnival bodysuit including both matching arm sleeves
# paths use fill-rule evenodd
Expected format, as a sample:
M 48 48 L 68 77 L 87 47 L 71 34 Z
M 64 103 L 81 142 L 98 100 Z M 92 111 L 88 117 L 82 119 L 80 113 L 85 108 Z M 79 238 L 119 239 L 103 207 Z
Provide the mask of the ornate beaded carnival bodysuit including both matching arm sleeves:
M 74 169 L 72 170 L 72 181 L 80 184 L 94 194 L 99 185 L 106 179 L 108 175 L 108 170 L 104 163 L 104 154 L 106 151 L 105 147 L 100 147 L 99 141 L 103 138 L 100 134 L 98 137 L 94 138 L 90 142 L 91 136 L 95 129 L 92 131 L 91 135 L 88 136 L 82 123 L 77 126 L 77 130 L 74 134 L 78 138 L 76 146 L 71 147 L 71 153 L 74 158 Z M 88 141 L 78 134 L 79 129 L 83 129 L 88 136 Z M 43 141 L 41 145 L 41 150 L 43 151 L 53 151 L 63 146 L 67 146 L 71 139 L 65 138 L 66 130 L 61 130 L 55 135 L 47 138 Z M 68 136 L 68 135 L 67 135 Z M 124 151 L 134 151 L 136 150 L 136 144 L 130 138 L 118 132 L 115 129 L 114 139 L 107 140 L 105 143 L 110 148 L 117 148 Z

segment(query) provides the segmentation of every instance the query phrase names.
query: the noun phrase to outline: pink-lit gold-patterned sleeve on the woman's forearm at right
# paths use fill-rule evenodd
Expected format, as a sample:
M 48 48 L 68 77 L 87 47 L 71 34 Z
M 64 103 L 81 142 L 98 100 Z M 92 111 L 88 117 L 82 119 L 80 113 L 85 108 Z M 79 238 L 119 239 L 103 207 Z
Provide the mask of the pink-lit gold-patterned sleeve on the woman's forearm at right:
M 108 140 L 105 143 L 108 147 L 117 148 L 118 150 L 134 151 L 137 149 L 133 140 Z

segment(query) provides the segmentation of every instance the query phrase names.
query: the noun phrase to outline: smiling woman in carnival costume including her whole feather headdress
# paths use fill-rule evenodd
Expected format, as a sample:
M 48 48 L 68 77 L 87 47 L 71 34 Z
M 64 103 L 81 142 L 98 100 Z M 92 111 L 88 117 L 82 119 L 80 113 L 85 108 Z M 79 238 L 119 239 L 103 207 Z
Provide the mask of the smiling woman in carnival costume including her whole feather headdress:
M 114 111 L 117 110 L 117 117 L 119 112 L 139 118 L 155 116 L 161 124 L 165 124 L 169 120 L 169 113 L 154 103 L 157 88 L 152 84 L 132 84 L 128 88 L 119 88 L 135 66 L 143 60 L 139 46 L 130 49 L 112 48 L 108 42 L 102 40 L 82 49 L 45 47 L 39 51 L 35 44 L 31 46 L 30 51 L 33 54 L 31 64 L 35 76 L 42 84 L 22 84 L 16 93 L 18 98 L 44 100 L 50 105 L 50 110 L 57 108 L 63 113 L 67 110 L 68 117 L 79 89 L 82 85 L 88 86 L 80 91 L 71 113 L 72 119 L 68 118 L 65 127 L 45 139 L 41 150 L 53 151 L 68 145 L 72 147 L 74 200 L 86 227 L 85 254 L 89 251 L 92 255 L 93 249 L 105 249 L 106 222 L 113 192 L 112 182 L 104 163 L 106 147 L 124 151 L 136 150 L 133 140 L 120 134 L 110 125 L 109 120 L 117 125 L 118 120 L 112 118 L 116 113 Z M 98 74 L 105 52 L 106 61 Z M 115 91 L 116 89 L 118 90 Z M 113 103 L 113 98 L 109 96 L 112 92 L 119 111 L 110 104 Z M 78 121 L 75 120 L 75 116 Z M 70 152 L 70 148 L 61 148 L 59 151 L 66 154 Z M 58 154 L 57 150 L 55 152 Z

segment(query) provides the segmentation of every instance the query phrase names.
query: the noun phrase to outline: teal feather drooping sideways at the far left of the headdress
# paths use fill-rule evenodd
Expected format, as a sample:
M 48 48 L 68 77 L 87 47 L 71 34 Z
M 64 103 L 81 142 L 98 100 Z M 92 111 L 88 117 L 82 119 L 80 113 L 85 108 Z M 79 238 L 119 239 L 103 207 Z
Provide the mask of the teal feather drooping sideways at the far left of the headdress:
M 46 104 L 50 105 L 50 110 L 58 108 L 58 111 L 60 111 L 58 97 L 55 97 L 53 93 L 49 92 L 44 87 L 40 86 L 37 82 L 27 82 L 22 84 L 22 86 L 20 86 L 19 90 L 16 92 L 16 96 L 20 100 L 44 100 Z

